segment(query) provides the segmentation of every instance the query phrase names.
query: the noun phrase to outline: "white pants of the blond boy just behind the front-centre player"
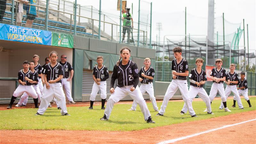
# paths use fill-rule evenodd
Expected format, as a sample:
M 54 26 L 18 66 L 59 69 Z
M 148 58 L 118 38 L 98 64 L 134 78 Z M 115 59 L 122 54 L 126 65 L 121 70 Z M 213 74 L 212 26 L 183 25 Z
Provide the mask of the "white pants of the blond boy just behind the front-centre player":
M 153 108 L 154 110 L 158 110 L 157 104 L 156 104 L 156 98 L 154 96 L 154 87 L 153 87 L 153 83 L 150 82 L 149 84 L 141 84 L 140 86 L 140 91 L 141 94 L 143 95 L 145 92 L 148 93 L 149 95 L 149 99 L 152 102 Z M 132 103 L 132 110 L 136 110 L 137 107 L 137 103 L 135 101 L 133 101 Z

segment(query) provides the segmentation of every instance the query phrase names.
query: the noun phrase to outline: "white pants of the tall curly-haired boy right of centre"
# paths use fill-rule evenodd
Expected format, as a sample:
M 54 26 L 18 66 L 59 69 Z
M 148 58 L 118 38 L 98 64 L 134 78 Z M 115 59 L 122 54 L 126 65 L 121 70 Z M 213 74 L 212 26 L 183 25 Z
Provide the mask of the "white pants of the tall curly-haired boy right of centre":
M 168 86 L 167 91 L 164 95 L 164 100 L 163 100 L 163 103 L 161 105 L 161 109 L 159 110 L 158 113 L 160 113 L 161 115 L 164 114 L 169 100 L 176 93 L 178 88 L 180 89 L 180 93 L 182 95 L 182 98 L 183 98 L 184 102 L 186 103 L 186 105 L 188 107 L 189 114 L 191 116 L 196 114 L 195 111 L 193 110 L 192 102 L 191 102 L 191 100 L 189 98 L 189 95 L 188 95 L 188 82 L 187 82 L 187 80 L 177 80 L 177 79 L 172 80 L 172 82 Z

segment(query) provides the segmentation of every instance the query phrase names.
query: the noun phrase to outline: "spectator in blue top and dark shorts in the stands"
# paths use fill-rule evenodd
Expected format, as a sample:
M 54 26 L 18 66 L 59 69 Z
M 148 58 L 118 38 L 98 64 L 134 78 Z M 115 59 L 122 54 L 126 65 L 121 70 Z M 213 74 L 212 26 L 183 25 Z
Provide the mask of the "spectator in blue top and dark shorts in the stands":
M 29 0 L 29 4 L 34 4 L 36 5 L 36 0 Z M 26 22 L 26 27 L 32 27 L 32 24 L 34 22 L 34 19 L 36 19 L 37 14 L 36 14 L 36 6 L 34 5 L 28 5 L 27 6 L 27 22 Z

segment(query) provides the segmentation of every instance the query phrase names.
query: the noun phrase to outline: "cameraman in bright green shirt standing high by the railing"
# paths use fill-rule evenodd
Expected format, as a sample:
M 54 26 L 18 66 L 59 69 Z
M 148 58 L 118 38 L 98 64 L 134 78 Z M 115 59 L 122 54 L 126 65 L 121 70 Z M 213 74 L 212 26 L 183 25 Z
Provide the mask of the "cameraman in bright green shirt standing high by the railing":
M 123 40 L 125 38 L 125 33 L 127 31 L 127 43 L 130 43 L 130 32 L 131 28 L 133 28 L 133 19 L 132 19 L 132 13 L 130 13 L 130 8 L 126 8 L 123 13 Z M 132 20 L 132 27 L 131 27 L 131 20 Z

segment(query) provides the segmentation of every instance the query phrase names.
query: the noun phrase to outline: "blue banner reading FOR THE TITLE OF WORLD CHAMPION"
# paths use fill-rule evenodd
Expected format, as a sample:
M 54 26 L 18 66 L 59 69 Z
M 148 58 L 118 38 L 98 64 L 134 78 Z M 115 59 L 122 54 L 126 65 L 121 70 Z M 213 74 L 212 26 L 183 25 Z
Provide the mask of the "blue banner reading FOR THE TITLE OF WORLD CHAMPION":
M 52 45 L 52 32 L 0 23 L 0 39 Z

